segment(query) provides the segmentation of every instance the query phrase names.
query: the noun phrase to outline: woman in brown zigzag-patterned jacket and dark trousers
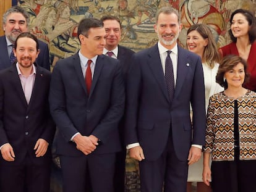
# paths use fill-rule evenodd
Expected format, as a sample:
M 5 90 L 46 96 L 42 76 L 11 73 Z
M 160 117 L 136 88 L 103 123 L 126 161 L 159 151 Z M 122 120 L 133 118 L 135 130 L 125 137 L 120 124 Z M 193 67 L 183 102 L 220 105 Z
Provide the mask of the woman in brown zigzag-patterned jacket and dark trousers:
M 210 98 L 203 154 L 203 182 L 211 178 L 213 192 L 256 191 L 256 93 L 243 87 L 248 80 L 242 57 L 223 58 L 216 81 L 224 91 Z

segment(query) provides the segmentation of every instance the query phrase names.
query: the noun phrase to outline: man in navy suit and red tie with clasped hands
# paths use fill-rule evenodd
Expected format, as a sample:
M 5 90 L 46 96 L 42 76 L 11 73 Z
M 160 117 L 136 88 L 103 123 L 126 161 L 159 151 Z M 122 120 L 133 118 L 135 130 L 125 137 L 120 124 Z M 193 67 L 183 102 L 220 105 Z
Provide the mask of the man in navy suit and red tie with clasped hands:
M 98 19 L 79 23 L 80 51 L 53 69 L 49 102 L 65 192 L 114 191 L 118 125 L 124 111 L 124 81 L 117 59 L 102 55 L 105 28 Z

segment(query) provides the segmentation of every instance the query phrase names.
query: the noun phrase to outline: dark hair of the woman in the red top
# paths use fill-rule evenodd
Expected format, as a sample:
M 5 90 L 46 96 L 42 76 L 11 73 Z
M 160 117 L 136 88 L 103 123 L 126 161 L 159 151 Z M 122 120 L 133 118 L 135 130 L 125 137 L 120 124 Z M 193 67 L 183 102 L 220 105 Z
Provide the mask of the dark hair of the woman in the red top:
M 230 17 L 230 20 L 229 20 L 230 25 L 232 24 L 233 17 L 236 14 L 242 14 L 246 18 L 246 20 L 247 20 L 247 22 L 249 23 L 249 26 L 250 26 L 249 31 L 248 31 L 249 40 L 250 40 L 250 43 L 254 43 L 254 40 L 256 40 L 256 24 L 255 24 L 254 14 L 252 14 L 252 12 L 250 12 L 249 10 L 237 9 L 231 14 L 231 17 Z M 231 29 L 229 29 L 228 33 L 229 33 L 229 36 L 230 36 L 231 40 L 234 43 L 236 43 L 237 38 L 234 37 Z

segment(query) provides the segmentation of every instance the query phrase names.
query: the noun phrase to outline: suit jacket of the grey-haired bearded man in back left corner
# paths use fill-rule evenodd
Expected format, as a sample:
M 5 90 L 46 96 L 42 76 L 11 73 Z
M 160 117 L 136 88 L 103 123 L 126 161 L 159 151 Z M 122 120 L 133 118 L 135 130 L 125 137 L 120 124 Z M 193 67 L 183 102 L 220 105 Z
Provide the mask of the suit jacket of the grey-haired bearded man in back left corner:
M 40 53 L 36 58 L 36 64 L 50 70 L 49 64 L 49 49 L 46 43 L 38 40 Z M 0 36 L 0 70 L 6 69 L 11 66 L 11 61 L 8 56 L 6 36 Z

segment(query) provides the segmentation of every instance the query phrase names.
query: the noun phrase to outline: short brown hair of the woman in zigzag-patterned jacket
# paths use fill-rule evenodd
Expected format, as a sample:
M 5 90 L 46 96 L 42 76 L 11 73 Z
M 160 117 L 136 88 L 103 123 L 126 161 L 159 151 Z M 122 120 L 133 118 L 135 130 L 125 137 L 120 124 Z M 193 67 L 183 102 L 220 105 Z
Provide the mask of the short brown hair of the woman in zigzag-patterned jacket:
M 232 70 L 237 64 L 241 63 L 244 65 L 244 83 L 247 83 L 249 81 L 250 75 L 247 72 L 247 62 L 242 59 L 242 57 L 239 57 L 237 55 L 228 55 L 223 57 L 223 60 L 220 63 L 218 73 L 216 75 L 216 82 L 219 83 L 224 89 L 226 90 L 228 88 L 228 83 L 226 80 L 224 80 L 224 73 L 228 72 L 229 70 Z

